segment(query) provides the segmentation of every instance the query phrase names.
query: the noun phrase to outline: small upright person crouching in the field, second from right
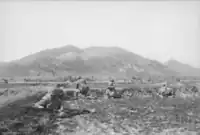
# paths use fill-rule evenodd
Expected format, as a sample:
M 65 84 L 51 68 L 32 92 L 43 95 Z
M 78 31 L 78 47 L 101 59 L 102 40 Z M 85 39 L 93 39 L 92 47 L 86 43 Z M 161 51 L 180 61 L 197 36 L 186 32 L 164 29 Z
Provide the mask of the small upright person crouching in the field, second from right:
M 116 90 L 115 90 L 115 80 L 111 79 L 108 83 L 108 88 L 106 90 L 106 95 L 108 96 L 108 98 L 110 97 L 114 97 L 114 95 L 116 94 Z

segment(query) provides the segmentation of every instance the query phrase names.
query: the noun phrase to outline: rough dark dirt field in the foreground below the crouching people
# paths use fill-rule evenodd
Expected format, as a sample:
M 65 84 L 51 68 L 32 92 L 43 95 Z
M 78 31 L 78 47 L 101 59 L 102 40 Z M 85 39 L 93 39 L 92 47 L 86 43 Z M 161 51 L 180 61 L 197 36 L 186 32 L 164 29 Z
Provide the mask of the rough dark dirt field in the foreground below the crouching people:
M 66 116 L 30 105 L 49 87 L 1 89 L 0 135 L 197 135 L 200 98 L 80 98 L 66 101 Z M 70 108 L 70 109 L 69 109 Z M 89 113 L 88 108 L 96 112 Z M 85 111 L 84 111 L 85 110 Z

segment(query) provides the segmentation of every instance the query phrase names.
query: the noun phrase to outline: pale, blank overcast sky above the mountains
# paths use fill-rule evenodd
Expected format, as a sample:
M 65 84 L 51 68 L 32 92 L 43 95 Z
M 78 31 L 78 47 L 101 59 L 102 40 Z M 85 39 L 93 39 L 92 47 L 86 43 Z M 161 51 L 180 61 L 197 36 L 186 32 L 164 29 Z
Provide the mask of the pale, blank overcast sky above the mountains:
M 0 2 L 0 61 L 67 44 L 200 67 L 200 2 Z

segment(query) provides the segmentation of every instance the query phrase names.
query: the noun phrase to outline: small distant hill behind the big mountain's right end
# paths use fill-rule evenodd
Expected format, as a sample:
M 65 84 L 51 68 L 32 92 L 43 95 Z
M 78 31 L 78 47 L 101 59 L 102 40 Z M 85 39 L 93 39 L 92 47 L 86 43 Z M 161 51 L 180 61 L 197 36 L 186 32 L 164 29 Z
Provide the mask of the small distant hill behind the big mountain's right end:
M 171 70 L 179 72 L 185 76 L 200 76 L 200 69 L 194 68 L 188 64 L 183 64 L 176 60 L 169 60 L 165 63 Z

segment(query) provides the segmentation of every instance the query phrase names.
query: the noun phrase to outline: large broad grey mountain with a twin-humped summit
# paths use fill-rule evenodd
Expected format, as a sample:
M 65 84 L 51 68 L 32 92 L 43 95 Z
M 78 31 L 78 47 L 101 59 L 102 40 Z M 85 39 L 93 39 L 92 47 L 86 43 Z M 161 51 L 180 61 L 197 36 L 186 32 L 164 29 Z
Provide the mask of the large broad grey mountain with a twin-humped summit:
M 77 48 L 66 45 L 1 64 L 1 76 L 102 75 L 115 77 L 178 75 L 158 61 L 119 47 Z

